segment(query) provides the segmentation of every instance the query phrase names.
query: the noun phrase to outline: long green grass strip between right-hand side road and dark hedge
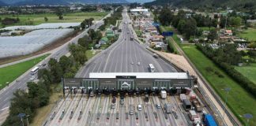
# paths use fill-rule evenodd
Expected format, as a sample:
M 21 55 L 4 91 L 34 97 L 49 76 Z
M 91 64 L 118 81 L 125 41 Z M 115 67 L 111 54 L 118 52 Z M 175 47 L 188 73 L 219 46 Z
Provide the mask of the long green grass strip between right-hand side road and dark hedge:
M 215 89 L 216 93 L 224 100 L 227 93 L 224 91 L 225 87 L 231 87 L 228 95 L 228 106 L 232 109 L 232 112 L 243 123 L 245 119 L 243 114 L 251 113 L 254 118 L 250 120 L 250 125 L 256 124 L 256 100 L 250 95 L 243 87 L 240 87 L 232 78 L 230 78 L 224 71 L 219 69 L 213 61 L 199 51 L 194 45 L 182 45 L 185 54 L 190 58 L 190 61 L 197 67 L 205 79 Z M 209 72 L 206 68 L 213 69 L 213 72 Z M 217 76 L 214 72 L 219 72 L 223 75 L 223 78 Z

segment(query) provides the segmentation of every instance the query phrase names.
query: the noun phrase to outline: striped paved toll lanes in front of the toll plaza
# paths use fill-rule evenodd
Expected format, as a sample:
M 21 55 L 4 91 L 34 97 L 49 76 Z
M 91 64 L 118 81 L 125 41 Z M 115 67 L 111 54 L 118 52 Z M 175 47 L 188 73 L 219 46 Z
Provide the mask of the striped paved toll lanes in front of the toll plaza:
M 166 99 L 152 95 L 149 95 L 149 99 L 145 95 L 89 97 L 81 94 L 81 91 L 76 94 L 68 92 L 66 98 L 57 103 L 46 125 L 189 125 L 178 96 L 168 96 Z M 165 113 L 165 103 L 174 105 L 173 113 Z M 141 109 L 138 109 L 138 105 L 142 106 Z M 177 116 L 174 116 L 174 112 Z

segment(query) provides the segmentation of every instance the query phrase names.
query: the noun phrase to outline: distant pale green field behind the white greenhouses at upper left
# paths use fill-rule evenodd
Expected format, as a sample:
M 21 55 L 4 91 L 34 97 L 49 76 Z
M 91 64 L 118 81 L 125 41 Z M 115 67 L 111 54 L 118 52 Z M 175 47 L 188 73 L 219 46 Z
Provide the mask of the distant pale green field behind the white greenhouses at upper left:
M 42 23 L 68 23 L 68 22 L 81 22 L 82 20 L 85 20 L 85 18 L 94 18 L 95 20 L 100 20 L 102 17 L 106 16 L 106 13 L 100 13 L 100 12 L 93 12 L 93 13 L 64 13 L 63 14 L 63 20 L 58 20 L 58 17 L 55 13 L 42 13 L 42 14 L 24 14 L 24 15 L 0 15 L 2 19 L 5 17 L 10 18 L 16 18 L 19 17 L 21 20 L 17 24 L 13 25 L 26 25 L 29 21 L 32 21 L 33 25 L 36 24 L 42 24 Z M 44 17 L 48 18 L 48 21 L 46 22 L 44 20 Z M 0 24 L 0 28 L 3 27 L 2 24 Z

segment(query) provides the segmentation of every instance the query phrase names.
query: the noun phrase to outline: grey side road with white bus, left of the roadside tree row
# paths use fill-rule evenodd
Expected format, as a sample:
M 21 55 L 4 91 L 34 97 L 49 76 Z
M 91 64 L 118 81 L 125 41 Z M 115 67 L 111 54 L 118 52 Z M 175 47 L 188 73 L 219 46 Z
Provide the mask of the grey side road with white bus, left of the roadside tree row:
M 111 15 L 111 13 L 107 14 L 106 17 L 109 17 L 110 15 Z M 104 17 L 104 18 L 106 18 L 106 17 Z M 92 24 L 92 26 L 90 26 L 89 28 L 92 28 L 92 29 L 99 28 L 102 24 L 104 24 L 104 18 L 97 21 L 96 24 Z M 77 35 L 76 37 L 71 39 L 69 42 L 63 44 L 62 46 L 59 46 L 55 50 L 49 51 L 48 53 L 51 53 L 51 55 L 48 56 L 47 58 L 45 58 L 39 64 L 47 63 L 51 57 L 53 57 L 53 58 L 57 57 L 59 59 L 63 55 L 66 55 L 67 53 L 69 53 L 68 45 L 70 43 L 77 43 L 78 39 L 80 39 L 81 37 L 83 37 L 84 35 L 87 34 L 87 31 L 89 28 L 85 29 L 85 31 L 81 32 L 81 34 Z M 39 64 L 37 64 L 37 65 L 39 65 Z M 27 82 L 30 81 L 29 78 L 32 76 L 30 74 L 30 70 L 31 69 L 29 69 L 27 72 L 25 72 L 22 76 L 18 77 L 18 79 L 17 79 L 18 82 L 16 80 L 13 81 L 12 83 L 9 83 L 9 87 L 6 87 L 6 88 L 2 89 L 2 91 L 0 91 L 0 101 L 2 101 L 2 102 L 0 102 L 0 125 L 3 123 L 5 118 L 8 116 L 9 101 L 11 98 L 13 98 L 13 92 L 16 91 L 17 89 L 25 90 L 27 88 Z

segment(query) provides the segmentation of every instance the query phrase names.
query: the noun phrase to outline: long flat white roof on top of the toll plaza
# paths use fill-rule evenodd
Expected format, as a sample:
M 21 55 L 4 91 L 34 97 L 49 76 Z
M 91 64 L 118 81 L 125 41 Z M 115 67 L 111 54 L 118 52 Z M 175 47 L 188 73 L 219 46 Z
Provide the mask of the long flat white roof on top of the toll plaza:
M 91 72 L 89 78 L 115 78 L 116 76 L 136 76 L 141 79 L 189 79 L 186 72 Z

